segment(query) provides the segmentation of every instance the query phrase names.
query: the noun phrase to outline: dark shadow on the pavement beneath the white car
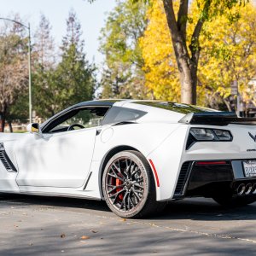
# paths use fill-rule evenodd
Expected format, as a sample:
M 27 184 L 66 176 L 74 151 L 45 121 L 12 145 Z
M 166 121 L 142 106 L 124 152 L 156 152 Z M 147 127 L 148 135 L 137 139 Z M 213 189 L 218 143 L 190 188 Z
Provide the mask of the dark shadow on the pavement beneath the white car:
M 0 194 L 1 204 L 12 206 L 34 205 L 46 207 L 63 207 L 89 209 L 99 212 L 111 212 L 105 201 L 94 201 L 78 198 L 38 196 L 38 195 L 7 195 Z M 171 201 L 163 212 L 147 219 L 195 219 L 195 220 L 254 220 L 256 219 L 256 203 L 246 207 L 226 208 L 219 206 L 212 199 L 193 198 L 181 201 Z

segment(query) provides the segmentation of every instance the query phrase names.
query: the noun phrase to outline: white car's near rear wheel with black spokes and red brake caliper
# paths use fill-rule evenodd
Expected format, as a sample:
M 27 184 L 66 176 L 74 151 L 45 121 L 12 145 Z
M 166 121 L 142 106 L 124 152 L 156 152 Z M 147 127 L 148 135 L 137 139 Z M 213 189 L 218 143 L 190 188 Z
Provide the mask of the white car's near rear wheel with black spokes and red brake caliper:
M 143 154 L 127 150 L 108 160 L 102 176 L 108 207 L 122 218 L 142 218 L 164 209 L 156 201 L 154 176 Z

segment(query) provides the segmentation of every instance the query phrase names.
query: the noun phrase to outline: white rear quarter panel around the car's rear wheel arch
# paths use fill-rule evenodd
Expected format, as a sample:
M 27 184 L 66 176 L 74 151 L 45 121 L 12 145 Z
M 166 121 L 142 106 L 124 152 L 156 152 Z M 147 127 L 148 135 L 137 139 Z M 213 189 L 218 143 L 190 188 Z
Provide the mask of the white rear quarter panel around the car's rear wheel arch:
M 102 197 L 102 164 L 108 152 L 119 146 L 129 146 L 140 151 L 147 160 L 154 161 L 160 179 L 157 200 L 170 196 L 171 192 L 164 191 L 172 189 L 172 183 L 174 183 L 172 178 L 177 176 L 178 161 L 181 158 L 185 134 L 184 128 L 180 130 L 182 126 L 185 127 L 180 124 L 143 123 L 102 127 L 101 133 L 96 136 L 94 156 L 90 167 L 92 175 L 86 188 L 88 195 Z M 176 141 L 173 143 L 172 140 L 175 137 Z M 99 184 L 97 189 L 95 184 Z

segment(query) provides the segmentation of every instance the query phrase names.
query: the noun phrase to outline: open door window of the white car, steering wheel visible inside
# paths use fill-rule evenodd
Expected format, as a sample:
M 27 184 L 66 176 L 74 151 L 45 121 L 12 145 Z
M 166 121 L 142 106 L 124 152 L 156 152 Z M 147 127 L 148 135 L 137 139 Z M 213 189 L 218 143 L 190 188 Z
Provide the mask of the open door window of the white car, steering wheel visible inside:
M 96 127 L 108 112 L 107 107 L 90 107 L 74 109 L 55 119 L 44 132 L 63 132 Z

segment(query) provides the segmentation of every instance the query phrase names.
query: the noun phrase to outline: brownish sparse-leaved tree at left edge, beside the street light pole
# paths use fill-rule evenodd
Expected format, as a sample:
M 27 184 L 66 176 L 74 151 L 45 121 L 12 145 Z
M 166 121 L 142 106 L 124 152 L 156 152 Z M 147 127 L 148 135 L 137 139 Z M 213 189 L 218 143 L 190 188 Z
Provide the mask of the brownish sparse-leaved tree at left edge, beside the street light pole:
M 20 21 L 18 15 L 13 19 Z M 0 131 L 4 131 L 6 121 L 11 126 L 12 120 L 17 116 L 18 108 L 15 106 L 27 93 L 26 70 L 26 32 L 18 24 L 3 22 L 3 26 L 0 27 Z

